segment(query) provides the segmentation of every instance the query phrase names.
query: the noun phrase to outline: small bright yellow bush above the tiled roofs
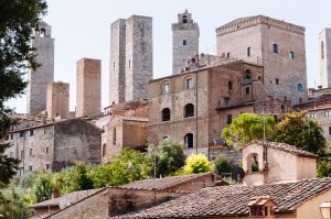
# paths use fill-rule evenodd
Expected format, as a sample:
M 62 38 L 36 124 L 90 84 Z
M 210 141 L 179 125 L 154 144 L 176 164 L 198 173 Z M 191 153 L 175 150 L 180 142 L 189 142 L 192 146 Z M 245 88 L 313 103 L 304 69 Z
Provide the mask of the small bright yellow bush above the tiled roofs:
M 183 174 L 199 174 L 212 171 L 212 164 L 203 154 L 192 154 L 188 157 Z

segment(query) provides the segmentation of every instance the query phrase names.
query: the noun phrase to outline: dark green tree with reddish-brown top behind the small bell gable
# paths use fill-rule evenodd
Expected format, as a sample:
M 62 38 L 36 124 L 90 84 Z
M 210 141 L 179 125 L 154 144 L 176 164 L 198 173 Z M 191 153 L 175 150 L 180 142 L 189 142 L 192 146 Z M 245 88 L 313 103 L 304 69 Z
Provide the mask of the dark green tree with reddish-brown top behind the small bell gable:
M 306 114 L 306 111 L 286 113 L 276 127 L 273 141 L 323 155 L 327 147 L 323 130 L 316 121 L 307 119 Z

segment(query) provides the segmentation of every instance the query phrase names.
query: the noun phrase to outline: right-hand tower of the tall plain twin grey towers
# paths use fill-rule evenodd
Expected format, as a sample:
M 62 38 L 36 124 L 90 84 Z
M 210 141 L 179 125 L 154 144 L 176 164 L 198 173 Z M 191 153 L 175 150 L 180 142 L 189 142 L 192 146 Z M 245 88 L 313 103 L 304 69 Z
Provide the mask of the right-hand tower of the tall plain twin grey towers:
M 132 15 L 126 20 L 125 100 L 148 98 L 153 77 L 152 18 Z

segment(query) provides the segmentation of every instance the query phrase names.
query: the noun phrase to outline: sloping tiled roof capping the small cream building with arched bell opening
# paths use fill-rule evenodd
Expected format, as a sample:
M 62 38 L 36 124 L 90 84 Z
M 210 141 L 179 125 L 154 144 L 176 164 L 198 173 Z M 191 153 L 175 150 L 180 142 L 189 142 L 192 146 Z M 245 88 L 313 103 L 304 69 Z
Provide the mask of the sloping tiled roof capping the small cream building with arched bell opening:
M 285 151 L 285 152 L 289 152 L 291 154 L 296 154 L 296 155 L 299 155 L 299 156 L 308 156 L 308 157 L 316 157 L 316 158 L 318 157 L 318 155 L 316 155 L 313 153 L 303 151 L 301 149 L 298 149 L 293 145 L 286 144 L 286 143 L 268 142 L 268 141 L 266 141 L 266 142 L 264 142 L 264 141 L 252 141 L 248 144 L 246 144 L 246 146 L 248 146 L 250 144 L 257 144 L 257 145 L 260 145 L 260 146 L 266 145 L 268 147 Z

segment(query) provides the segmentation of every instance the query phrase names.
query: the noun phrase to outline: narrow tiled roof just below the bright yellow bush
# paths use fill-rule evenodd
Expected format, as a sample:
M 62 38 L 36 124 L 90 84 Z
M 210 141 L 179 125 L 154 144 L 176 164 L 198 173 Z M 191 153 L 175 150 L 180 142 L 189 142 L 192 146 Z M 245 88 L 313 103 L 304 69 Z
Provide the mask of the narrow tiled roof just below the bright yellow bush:
M 120 186 L 121 188 L 127 189 L 142 189 L 142 190 L 167 190 L 173 186 L 181 185 L 189 180 L 193 180 L 212 173 L 203 173 L 203 174 L 192 174 L 185 176 L 170 176 L 164 178 L 154 178 L 154 179 L 143 179 L 143 180 L 136 180 L 130 184 L 126 184 Z

